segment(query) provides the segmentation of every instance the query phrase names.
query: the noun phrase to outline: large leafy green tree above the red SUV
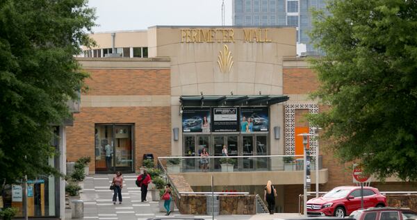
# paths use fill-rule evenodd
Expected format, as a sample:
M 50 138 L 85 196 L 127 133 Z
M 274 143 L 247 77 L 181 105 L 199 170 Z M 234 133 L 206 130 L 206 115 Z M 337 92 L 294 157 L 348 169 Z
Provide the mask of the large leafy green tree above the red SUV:
M 329 110 L 310 115 L 343 162 L 384 179 L 417 180 L 417 1 L 329 1 L 311 60 Z

